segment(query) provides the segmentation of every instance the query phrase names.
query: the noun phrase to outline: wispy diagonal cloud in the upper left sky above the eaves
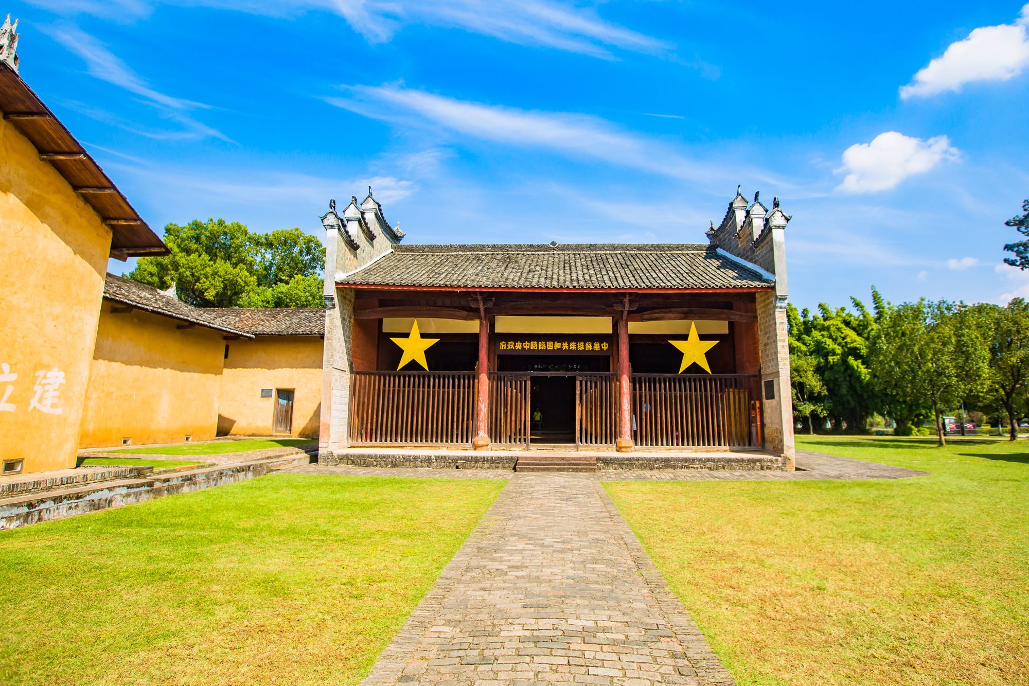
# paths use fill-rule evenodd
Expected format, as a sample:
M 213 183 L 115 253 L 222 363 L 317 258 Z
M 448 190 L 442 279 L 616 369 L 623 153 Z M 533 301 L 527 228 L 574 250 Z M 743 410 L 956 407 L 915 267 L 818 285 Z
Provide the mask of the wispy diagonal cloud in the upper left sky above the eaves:
M 86 65 L 86 73 L 91 76 L 139 96 L 143 102 L 154 107 L 162 118 L 175 122 L 183 130 L 155 132 L 146 131 L 126 123 L 115 123 L 117 126 L 149 138 L 162 140 L 213 137 L 229 141 L 220 131 L 186 113 L 194 109 L 209 109 L 209 105 L 184 98 L 175 98 L 155 90 L 96 37 L 70 26 L 51 27 L 47 33 L 68 50 L 82 58 Z M 97 111 L 94 110 L 94 114 L 90 115 L 94 116 L 96 113 Z M 96 118 L 103 117 L 96 116 Z

